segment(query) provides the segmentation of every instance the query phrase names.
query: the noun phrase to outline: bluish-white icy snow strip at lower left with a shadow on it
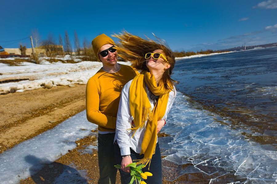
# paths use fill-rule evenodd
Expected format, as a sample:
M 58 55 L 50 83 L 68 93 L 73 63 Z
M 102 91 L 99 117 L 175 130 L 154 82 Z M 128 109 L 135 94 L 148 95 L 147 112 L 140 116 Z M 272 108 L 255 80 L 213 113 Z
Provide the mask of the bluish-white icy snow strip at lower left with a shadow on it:
M 91 130 L 96 128 L 97 125 L 87 121 L 86 111 L 83 111 L 53 129 L 5 151 L 0 154 L 0 183 L 18 183 L 20 179 L 35 174 L 44 164 L 54 162 L 61 155 L 65 155 L 68 150 L 76 148 L 76 140 L 95 134 Z M 73 168 L 68 167 L 68 169 Z M 67 177 L 64 176 L 65 174 Z M 66 178 L 74 181 L 72 174 L 74 173 L 68 170 L 64 171 L 57 178 L 56 183 L 73 183 L 59 182 L 59 180 L 66 181 Z M 76 174 L 76 176 L 79 175 Z

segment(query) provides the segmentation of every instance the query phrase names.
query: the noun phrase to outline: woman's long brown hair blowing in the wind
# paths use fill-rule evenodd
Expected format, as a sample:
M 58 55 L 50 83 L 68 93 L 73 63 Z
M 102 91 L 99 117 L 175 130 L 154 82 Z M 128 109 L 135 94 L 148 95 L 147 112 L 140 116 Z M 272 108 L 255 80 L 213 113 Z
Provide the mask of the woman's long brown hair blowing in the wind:
M 146 66 L 147 59 L 145 59 L 145 54 L 158 49 L 163 50 L 165 57 L 167 58 L 171 66 L 163 73 L 160 82 L 164 83 L 166 89 L 171 89 L 167 85 L 168 81 L 171 83 L 172 86 L 174 86 L 174 83 L 176 83 L 177 81 L 171 79 L 170 76 L 175 65 L 175 56 L 172 50 L 168 46 L 166 46 L 167 44 L 164 40 L 161 40 L 157 37 L 157 40 L 151 40 L 148 37 L 146 37 L 147 40 L 145 40 L 139 36 L 134 36 L 125 31 L 112 36 L 118 38 L 121 44 L 121 46 L 115 46 L 118 52 L 120 52 L 118 56 L 131 61 L 133 63 L 132 66 L 137 70 L 149 71 Z

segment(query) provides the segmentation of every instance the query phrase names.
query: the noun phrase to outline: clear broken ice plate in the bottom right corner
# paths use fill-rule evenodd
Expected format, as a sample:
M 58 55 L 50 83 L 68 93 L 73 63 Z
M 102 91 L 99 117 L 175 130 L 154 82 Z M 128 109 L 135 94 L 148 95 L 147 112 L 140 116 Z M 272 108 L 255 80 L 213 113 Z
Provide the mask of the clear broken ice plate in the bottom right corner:
M 260 163 L 254 171 L 248 174 L 247 178 L 277 181 L 277 163 Z

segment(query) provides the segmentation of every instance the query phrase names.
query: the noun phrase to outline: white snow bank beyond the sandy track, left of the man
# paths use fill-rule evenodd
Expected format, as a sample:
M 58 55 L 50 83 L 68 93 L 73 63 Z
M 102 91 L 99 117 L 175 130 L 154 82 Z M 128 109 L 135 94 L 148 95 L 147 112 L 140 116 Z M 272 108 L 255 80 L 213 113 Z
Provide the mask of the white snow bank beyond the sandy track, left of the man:
M 0 63 L 1 81 L 23 79 L 19 82 L 0 83 L 0 93 L 9 93 L 11 90 L 23 92 L 43 87 L 51 88 L 53 86 L 86 84 L 88 79 L 102 67 L 102 63 L 96 61 L 49 63 L 45 59 L 42 59 L 42 64 L 22 62 L 21 66 L 9 66 Z M 130 62 L 118 63 L 131 64 Z

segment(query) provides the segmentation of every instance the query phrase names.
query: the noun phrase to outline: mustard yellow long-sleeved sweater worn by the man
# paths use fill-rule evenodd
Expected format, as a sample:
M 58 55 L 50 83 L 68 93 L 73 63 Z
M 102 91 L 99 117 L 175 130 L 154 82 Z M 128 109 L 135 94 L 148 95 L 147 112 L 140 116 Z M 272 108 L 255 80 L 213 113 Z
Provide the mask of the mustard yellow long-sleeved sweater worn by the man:
M 99 131 L 115 131 L 115 122 L 123 86 L 136 76 L 127 65 L 109 73 L 100 69 L 86 85 L 86 117 Z

